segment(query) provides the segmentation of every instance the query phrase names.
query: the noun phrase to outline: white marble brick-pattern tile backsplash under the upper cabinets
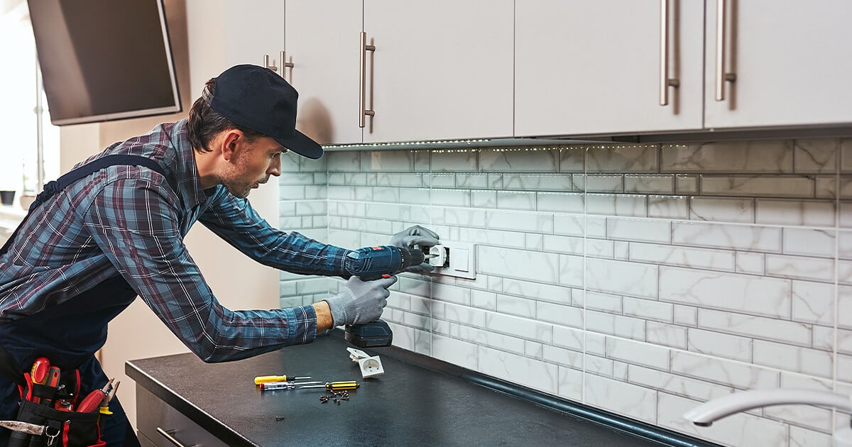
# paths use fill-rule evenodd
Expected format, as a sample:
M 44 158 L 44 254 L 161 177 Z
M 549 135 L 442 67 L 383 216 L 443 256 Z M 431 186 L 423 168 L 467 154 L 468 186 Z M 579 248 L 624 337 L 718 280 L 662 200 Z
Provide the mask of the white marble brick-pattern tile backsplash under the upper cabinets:
M 852 392 L 852 139 L 286 157 L 285 231 L 350 248 L 412 224 L 477 244 L 474 280 L 403 274 L 394 342 L 725 445 L 831 445 L 828 410 L 713 427 L 736 390 Z M 337 279 L 282 273 L 281 306 Z

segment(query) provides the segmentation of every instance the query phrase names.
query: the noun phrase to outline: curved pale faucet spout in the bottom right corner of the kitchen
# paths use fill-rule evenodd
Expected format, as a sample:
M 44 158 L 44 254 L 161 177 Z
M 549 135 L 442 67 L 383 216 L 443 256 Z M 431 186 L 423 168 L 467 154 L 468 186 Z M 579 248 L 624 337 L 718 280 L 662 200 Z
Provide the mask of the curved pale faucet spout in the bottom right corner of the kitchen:
M 800 388 L 774 388 L 743 391 L 715 398 L 687 411 L 683 417 L 699 427 L 710 427 L 714 421 L 740 411 L 790 404 L 820 405 L 852 411 L 852 397 L 845 394 Z M 852 427 L 843 427 L 834 432 L 834 446 L 852 447 Z

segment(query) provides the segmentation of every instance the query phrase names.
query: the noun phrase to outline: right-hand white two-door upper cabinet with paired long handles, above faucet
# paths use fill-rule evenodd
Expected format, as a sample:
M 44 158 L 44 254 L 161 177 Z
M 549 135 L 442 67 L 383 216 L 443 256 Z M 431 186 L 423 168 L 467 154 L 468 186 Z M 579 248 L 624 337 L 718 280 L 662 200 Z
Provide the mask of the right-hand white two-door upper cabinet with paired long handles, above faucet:
M 844 0 L 518 2 L 515 135 L 852 123 L 850 15 Z M 665 80 L 678 83 L 667 87 L 665 106 L 663 61 Z

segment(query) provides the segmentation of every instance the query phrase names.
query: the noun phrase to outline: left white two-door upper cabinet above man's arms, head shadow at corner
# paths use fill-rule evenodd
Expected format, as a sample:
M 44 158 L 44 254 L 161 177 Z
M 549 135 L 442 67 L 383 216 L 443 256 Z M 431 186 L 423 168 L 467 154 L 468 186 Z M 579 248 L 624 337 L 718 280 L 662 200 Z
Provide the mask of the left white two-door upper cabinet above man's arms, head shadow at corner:
M 288 0 L 285 15 L 297 127 L 320 142 L 512 135 L 511 0 Z

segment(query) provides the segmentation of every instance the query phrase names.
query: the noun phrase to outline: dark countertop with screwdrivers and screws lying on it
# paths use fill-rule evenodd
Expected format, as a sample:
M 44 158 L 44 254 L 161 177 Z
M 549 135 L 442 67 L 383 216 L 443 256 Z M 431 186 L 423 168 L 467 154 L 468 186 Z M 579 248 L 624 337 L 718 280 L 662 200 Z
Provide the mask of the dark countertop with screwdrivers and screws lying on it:
M 204 364 L 186 353 L 131 360 L 125 370 L 228 445 L 659 445 L 385 355 L 395 347 L 363 349 L 385 371 L 365 380 L 348 346 L 331 335 L 237 362 Z M 322 389 L 255 387 L 256 375 L 277 374 L 361 386 L 339 405 L 320 403 Z

